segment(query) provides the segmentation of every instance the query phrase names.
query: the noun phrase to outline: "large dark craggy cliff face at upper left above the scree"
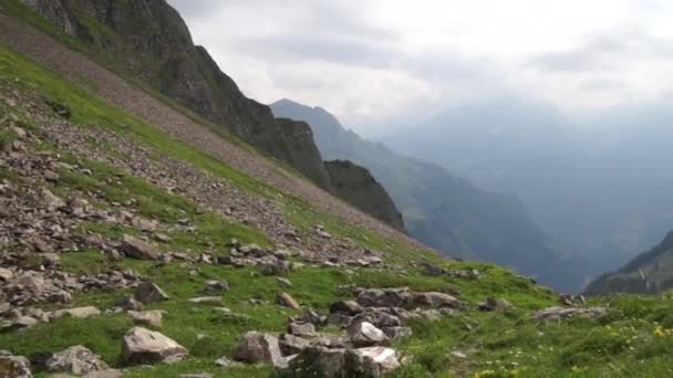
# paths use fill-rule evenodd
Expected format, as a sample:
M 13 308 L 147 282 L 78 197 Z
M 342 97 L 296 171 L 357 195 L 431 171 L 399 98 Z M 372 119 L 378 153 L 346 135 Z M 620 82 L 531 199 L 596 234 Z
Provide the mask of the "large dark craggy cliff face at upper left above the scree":
M 246 97 L 164 0 L 22 1 L 126 74 L 330 189 L 310 128 L 277 122 Z

